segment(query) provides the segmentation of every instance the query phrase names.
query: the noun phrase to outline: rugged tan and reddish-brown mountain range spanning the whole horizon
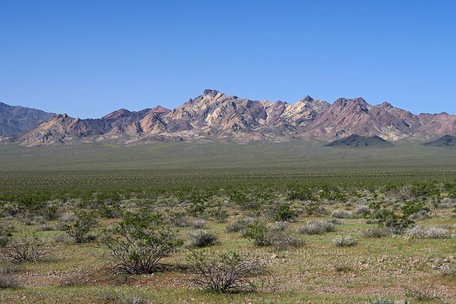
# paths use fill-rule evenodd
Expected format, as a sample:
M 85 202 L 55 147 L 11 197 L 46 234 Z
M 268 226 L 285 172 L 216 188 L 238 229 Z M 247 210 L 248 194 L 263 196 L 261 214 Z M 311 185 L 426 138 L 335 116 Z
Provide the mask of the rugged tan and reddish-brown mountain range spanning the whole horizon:
M 446 112 L 414 115 L 388 102 L 363 98 L 332 104 L 306 96 L 296 103 L 250 100 L 204 90 L 175 109 L 120 109 L 100 119 L 71 118 L 0 103 L 0 142 L 23 146 L 106 141 L 126 145 L 156 141 L 213 139 L 285 141 L 290 138 L 335 141 L 379 136 L 392 142 L 426 141 L 456 135 L 456 116 Z

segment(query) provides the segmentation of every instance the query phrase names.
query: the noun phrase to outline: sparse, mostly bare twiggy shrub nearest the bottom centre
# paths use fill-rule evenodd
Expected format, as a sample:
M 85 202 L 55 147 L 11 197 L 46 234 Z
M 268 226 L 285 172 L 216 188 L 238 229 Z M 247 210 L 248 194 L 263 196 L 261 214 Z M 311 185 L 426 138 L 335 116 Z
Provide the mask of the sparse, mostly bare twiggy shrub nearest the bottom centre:
M 219 293 L 255 292 L 275 284 L 274 276 L 265 269 L 262 258 L 230 251 L 206 255 L 191 250 L 188 256 L 196 278 L 185 279 L 201 290 Z

